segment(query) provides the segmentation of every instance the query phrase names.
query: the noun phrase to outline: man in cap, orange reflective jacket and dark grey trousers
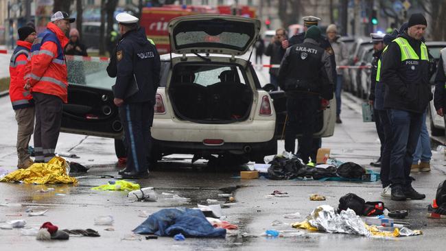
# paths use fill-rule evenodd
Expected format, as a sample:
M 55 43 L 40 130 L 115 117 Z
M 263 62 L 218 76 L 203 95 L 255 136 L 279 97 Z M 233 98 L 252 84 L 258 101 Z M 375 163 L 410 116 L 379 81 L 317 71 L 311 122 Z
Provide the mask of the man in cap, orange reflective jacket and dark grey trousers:
M 34 128 L 35 162 L 48 162 L 54 151 L 62 121 L 62 102 L 67 103 L 67 64 L 63 49 L 68 43 L 65 34 L 70 29 L 67 12 L 51 16 L 47 29 L 38 34 L 31 49 L 31 72 L 27 86 L 36 103 L 36 127 Z

